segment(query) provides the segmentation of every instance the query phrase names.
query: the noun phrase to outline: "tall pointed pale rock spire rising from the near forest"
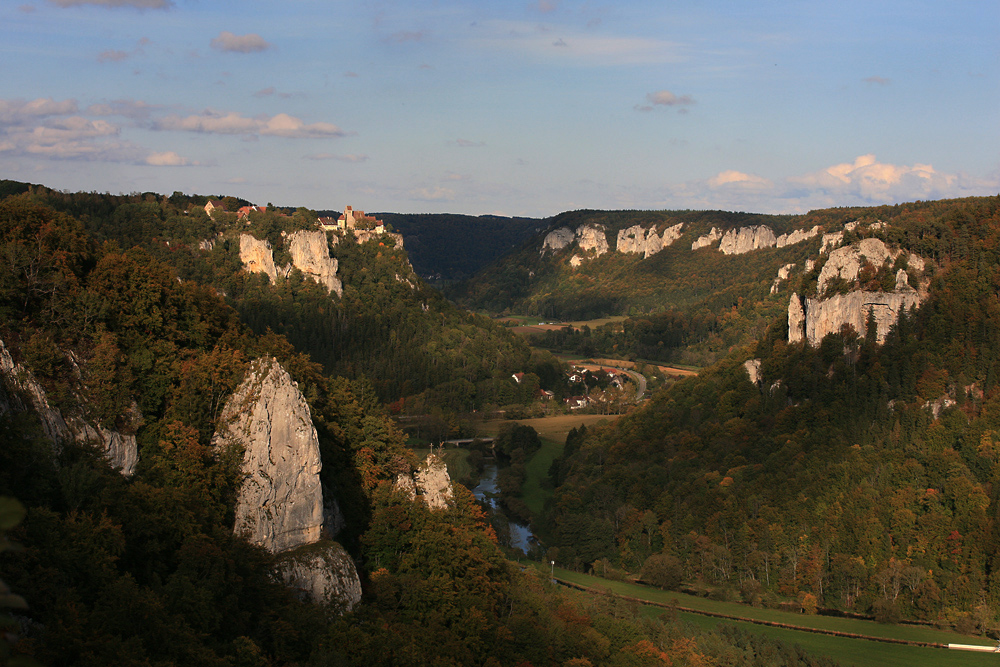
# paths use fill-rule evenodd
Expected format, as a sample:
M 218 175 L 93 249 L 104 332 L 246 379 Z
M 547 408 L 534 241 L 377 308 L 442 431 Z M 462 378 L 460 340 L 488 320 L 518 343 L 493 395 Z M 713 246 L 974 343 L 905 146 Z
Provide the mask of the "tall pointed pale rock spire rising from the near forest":
M 254 361 L 219 423 L 215 444 L 244 450 L 246 479 L 234 532 L 271 553 L 318 541 L 319 438 L 309 405 L 288 372 L 273 358 Z

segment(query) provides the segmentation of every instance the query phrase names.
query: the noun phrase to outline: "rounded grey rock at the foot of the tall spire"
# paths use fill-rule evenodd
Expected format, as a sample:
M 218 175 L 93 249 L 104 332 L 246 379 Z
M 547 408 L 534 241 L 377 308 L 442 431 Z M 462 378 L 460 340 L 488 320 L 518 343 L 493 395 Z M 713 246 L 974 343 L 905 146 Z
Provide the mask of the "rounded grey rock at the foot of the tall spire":
M 299 597 L 314 604 L 331 605 L 344 614 L 361 601 L 361 580 L 354 561 L 336 542 L 320 542 L 283 555 L 278 576 Z

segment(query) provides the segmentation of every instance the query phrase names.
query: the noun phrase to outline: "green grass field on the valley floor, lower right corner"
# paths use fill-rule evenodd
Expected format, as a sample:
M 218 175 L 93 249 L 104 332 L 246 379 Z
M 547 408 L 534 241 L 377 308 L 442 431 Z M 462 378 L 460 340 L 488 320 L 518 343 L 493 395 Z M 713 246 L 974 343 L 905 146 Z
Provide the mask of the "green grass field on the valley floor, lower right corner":
M 546 570 L 540 563 L 534 564 L 536 567 Z M 771 621 L 776 623 L 787 623 L 803 627 L 817 628 L 821 630 L 834 630 L 838 632 L 850 632 L 855 634 L 868 635 L 872 637 L 887 637 L 890 639 L 904 639 L 907 641 L 936 642 L 941 644 L 978 644 L 988 645 L 992 642 L 981 637 L 968 637 L 953 632 L 936 630 L 909 625 L 883 625 L 872 621 L 863 621 L 852 618 L 836 618 L 832 616 L 807 616 L 791 612 L 777 611 L 774 609 L 759 609 L 732 602 L 718 602 L 708 600 L 683 593 L 673 591 L 659 591 L 646 586 L 639 586 L 626 582 L 608 581 L 598 577 L 592 577 L 579 572 L 569 570 L 555 570 L 556 577 L 572 583 L 588 586 L 591 588 L 606 589 L 617 595 L 624 595 L 651 602 L 670 604 L 676 600 L 679 607 L 687 607 L 699 611 L 707 611 L 716 614 L 727 614 L 742 618 L 752 618 L 756 620 Z M 643 613 L 650 616 L 658 616 L 663 613 L 659 607 L 645 607 Z M 905 646 L 899 644 L 886 644 L 881 642 L 852 639 L 847 637 L 833 637 L 830 635 L 820 635 L 799 630 L 786 628 L 775 628 L 754 623 L 740 621 L 730 621 L 726 619 L 701 616 L 699 614 L 681 612 L 681 617 L 694 625 L 702 628 L 714 628 L 720 623 L 732 623 L 744 627 L 747 630 L 766 634 L 780 638 L 784 641 L 800 644 L 803 648 L 815 655 L 829 656 L 842 665 L 887 665 L 899 667 L 922 667 L 927 665 L 1000 665 L 1000 655 L 988 653 L 966 653 L 962 651 L 945 651 L 944 649 L 924 648 L 919 646 Z

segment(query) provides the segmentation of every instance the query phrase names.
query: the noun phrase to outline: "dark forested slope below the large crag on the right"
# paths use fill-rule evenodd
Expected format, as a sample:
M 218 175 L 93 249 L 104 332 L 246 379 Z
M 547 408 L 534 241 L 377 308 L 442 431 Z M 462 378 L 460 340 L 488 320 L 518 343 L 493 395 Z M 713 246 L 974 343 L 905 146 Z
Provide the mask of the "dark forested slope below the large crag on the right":
M 851 329 L 789 345 L 779 319 L 645 409 L 571 434 L 551 557 L 638 571 L 667 555 L 752 604 L 1000 628 L 1000 198 L 872 214 L 939 262 L 922 307 L 882 346 Z

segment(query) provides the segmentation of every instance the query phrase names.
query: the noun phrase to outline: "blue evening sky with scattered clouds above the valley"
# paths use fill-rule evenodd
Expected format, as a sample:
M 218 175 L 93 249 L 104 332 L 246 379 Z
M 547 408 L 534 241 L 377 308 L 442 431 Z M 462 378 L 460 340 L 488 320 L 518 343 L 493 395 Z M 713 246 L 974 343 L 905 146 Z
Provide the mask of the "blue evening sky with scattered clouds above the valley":
M 998 35 L 993 0 L 13 0 L 0 178 L 528 216 L 995 195 Z

